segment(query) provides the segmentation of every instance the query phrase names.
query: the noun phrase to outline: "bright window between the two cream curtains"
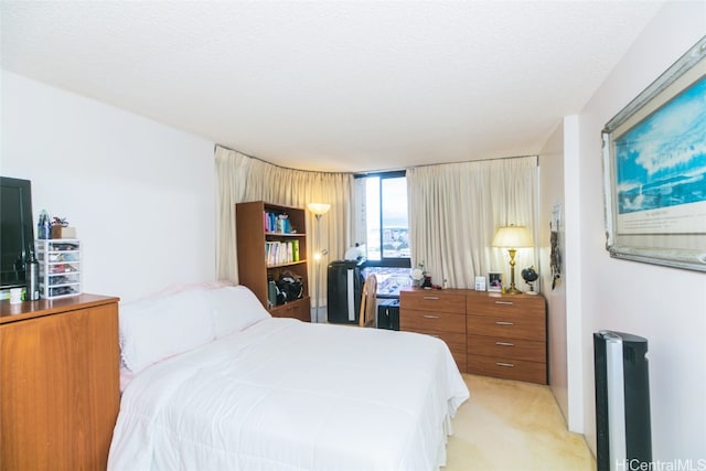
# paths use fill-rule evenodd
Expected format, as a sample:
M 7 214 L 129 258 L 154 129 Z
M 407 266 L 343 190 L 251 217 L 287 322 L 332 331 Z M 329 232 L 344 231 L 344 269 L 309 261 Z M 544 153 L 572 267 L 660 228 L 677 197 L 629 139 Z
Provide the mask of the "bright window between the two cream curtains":
M 398 296 L 409 285 L 409 224 L 405 172 L 361 176 L 356 184 L 365 270 L 377 276 L 377 295 Z

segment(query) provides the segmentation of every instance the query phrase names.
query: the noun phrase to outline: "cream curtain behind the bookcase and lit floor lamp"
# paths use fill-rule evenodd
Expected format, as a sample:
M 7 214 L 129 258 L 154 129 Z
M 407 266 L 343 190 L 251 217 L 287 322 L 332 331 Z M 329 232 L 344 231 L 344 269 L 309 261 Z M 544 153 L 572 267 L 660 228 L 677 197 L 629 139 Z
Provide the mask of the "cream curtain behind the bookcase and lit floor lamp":
M 216 267 L 218 279 L 238 282 L 235 237 L 235 204 L 265 201 L 271 204 L 306 208 L 308 203 L 329 203 L 331 210 L 321 217 L 321 246 L 314 247 L 315 217 L 307 212 L 307 259 L 313 260 L 317 248 L 328 248 L 321 264 L 343 258 L 353 240 L 353 175 L 350 173 L 309 172 L 286 169 L 216 146 Z M 308 265 L 314 279 L 314 263 Z M 323 268 L 325 272 L 325 268 Z M 325 297 L 325 276 L 320 292 Z M 313 290 L 313 282 L 309 289 Z M 311 292 L 313 295 L 313 292 Z M 325 301 L 320 300 L 324 306 Z

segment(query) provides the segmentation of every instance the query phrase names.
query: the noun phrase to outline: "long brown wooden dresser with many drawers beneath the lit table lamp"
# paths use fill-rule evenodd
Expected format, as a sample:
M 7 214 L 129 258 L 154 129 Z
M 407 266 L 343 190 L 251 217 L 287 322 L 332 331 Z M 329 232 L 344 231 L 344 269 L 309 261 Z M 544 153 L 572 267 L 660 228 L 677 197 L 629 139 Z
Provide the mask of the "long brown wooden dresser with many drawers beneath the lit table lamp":
M 547 384 L 546 303 L 541 295 L 405 289 L 399 329 L 445 340 L 461 372 Z

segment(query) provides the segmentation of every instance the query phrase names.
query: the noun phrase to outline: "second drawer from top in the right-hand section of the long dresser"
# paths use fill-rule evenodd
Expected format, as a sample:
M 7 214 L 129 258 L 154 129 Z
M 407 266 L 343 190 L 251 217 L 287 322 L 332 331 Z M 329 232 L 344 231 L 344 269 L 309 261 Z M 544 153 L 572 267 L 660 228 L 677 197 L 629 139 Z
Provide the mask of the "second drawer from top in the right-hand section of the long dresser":
M 544 317 L 528 317 L 517 313 L 503 315 L 468 315 L 467 331 L 470 335 L 489 335 L 504 339 L 527 339 L 546 341 Z

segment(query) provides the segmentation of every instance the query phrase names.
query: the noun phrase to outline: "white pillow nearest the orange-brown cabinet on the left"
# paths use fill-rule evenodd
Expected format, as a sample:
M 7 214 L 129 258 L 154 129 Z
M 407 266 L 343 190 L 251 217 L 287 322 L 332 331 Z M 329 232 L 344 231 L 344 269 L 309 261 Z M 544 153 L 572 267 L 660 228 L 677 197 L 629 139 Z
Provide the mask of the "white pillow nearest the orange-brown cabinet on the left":
M 213 340 L 204 291 L 188 290 L 119 310 L 120 354 L 133 373 Z

